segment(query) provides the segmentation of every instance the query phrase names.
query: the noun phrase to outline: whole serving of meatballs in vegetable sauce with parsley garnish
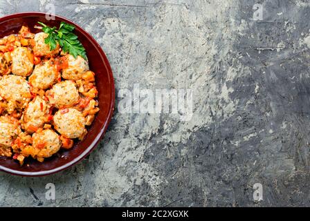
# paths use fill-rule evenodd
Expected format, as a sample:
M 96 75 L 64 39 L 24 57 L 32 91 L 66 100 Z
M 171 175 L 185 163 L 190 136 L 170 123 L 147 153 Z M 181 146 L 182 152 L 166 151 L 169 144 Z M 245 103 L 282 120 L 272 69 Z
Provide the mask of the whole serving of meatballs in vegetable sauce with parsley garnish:
M 73 33 L 44 23 L 0 39 L 0 157 L 44 162 L 83 140 L 98 113 L 95 73 Z

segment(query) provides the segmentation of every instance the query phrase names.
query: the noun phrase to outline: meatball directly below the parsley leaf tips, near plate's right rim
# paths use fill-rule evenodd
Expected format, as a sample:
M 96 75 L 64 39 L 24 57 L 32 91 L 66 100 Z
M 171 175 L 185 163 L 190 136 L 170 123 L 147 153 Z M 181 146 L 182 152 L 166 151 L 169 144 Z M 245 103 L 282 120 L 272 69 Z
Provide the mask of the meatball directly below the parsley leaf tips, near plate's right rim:
M 77 81 L 82 79 L 83 73 L 89 70 L 89 64 L 84 58 L 78 56 L 76 59 L 72 55 L 66 55 L 68 67 L 62 70 L 64 79 Z

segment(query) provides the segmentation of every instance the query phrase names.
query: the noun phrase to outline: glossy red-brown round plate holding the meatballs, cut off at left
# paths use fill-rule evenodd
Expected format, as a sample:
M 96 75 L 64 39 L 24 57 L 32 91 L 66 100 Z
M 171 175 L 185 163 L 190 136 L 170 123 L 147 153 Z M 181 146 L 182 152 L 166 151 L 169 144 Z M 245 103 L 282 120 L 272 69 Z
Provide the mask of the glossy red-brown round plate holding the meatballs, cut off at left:
M 23 24 L 27 24 L 31 32 L 39 32 L 39 30 L 33 28 L 37 25 L 37 21 L 42 21 L 48 26 L 56 26 L 57 28 L 61 21 L 65 21 L 76 27 L 75 34 L 78 35 L 79 40 L 86 49 L 87 57 L 89 58 L 89 67 L 95 73 L 100 111 L 96 115 L 93 124 L 89 127 L 89 133 L 87 133 L 84 140 L 77 142 L 68 151 L 60 151 L 53 155 L 53 157 L 46 159 L 43 163 L 28 157 L 29 159 L 26 160 L 24 165 L 20 166 L 12 158 L 0 157 L 0 171 L 14 175 L 50 175 L 80 162 L 100 142 L 100 139 L 107 130 L 114 109 L 114 81 L 109 61 L 97 41 L 77 24 L 57 15 L 55 15 L 55 20 L 47 20 L 46 13 L 43 12 L 22 12 L 0 18 L 0 38 L 17 33 Z

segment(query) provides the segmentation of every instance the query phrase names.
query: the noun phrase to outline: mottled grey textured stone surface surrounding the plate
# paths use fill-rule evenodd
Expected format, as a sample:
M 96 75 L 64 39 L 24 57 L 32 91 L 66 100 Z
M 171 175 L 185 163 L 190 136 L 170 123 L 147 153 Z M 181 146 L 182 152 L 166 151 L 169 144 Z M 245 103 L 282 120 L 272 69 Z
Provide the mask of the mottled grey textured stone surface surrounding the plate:
M 310 206 L 308 1 L 258 1 L 262 21 L 253 0 L 1 0 L 0 15 L 48 3 L 98 40 L 116 93 L 190 88 L 194 115 L 116 110 L 78 166 L 1 173 L 0 206 Z M 49 182 L 55 201 L 45 200 Z

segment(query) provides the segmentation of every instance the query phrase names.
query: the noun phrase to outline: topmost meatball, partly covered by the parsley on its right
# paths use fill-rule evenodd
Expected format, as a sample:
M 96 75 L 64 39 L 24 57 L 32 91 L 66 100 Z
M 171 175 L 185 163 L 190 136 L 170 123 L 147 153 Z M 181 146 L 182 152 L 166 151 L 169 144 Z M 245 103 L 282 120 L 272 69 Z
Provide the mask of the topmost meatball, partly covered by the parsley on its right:
M 35 34 L 35 45 L 33 46 L 33 52 L 37 57 L 54 57 L 60 51 L 60 45 L 57 44 L 54 50 L 50 50 L 50 46 L 44 43 L 44 40 L 48 37 L 48 34 L 39 32 Z

